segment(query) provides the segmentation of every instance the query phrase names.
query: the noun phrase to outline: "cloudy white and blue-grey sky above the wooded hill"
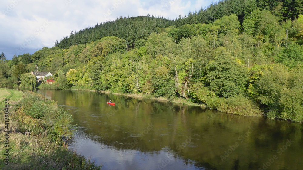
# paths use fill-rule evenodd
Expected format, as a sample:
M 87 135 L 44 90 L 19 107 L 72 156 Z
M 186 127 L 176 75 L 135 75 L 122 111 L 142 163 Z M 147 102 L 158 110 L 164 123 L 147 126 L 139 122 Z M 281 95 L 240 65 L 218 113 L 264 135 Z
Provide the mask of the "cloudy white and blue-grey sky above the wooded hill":
M 163 16 L 175 19 L 199 11 L 212 0 L 1 0 L 0 53 L 33 54 L 51 48 L 73 30 L 83 30 L 124 16 Z

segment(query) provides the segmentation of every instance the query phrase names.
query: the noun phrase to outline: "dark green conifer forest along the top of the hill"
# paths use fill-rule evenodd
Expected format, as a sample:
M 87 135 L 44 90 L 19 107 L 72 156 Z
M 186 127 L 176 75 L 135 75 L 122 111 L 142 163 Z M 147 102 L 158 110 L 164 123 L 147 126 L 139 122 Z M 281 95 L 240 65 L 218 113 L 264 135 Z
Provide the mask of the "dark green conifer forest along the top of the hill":
M 96 24 L 94 27 L 85 28 L 78 32 L 71 32 L 69 36 L 61 39 L 56 46 L 60 48 L 69 48 L 72 45 L 86 44 L 99 40 L 106 36 L 116 36 L 126 40 L 127 48 L 141 47 L 144 40 L 152 32 L 160 33 L 161 28 L 168 26 L 181 27 L 183 25 L 192 25 L 198 23 L 213 23 L 215 20 L 223 16 L 235 14 L 242 25 L 255 9 L 266 9 L 274 14 L 280 24 L 281 21 L 294 20 L 298 18 L 303 11 L 302 0 L 276 1 L 276 0 L 226 0 L 220 1 L 218 4 L 211 4 L 208 8 L 201 8 L 198 12 L 189 11 L 188 15 L 181 16 L 174 20 L 169 18 L 140 16 L 140 17 L 124 17 L 120 16 L 115 21 L 107 21 L 106 23 Z M 268 18 L 270 19 L 270 18 Z M 187 28 L 190 29 L 190 28 Z M 189 30 L 186 27 L 181 28 L 181 37 L 187 38 Z M 183 34 L 182 34 L 183 33 Z

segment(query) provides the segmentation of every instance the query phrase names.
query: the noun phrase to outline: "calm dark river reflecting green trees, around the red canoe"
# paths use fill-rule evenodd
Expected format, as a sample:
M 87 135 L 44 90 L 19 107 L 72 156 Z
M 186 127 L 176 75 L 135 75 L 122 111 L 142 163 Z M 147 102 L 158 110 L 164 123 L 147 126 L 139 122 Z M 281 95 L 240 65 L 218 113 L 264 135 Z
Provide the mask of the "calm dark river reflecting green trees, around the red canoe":
M 102 169 L 303 169 L 300 123 L 87 91 L 38 93 L 73 115 L 69 149 Z

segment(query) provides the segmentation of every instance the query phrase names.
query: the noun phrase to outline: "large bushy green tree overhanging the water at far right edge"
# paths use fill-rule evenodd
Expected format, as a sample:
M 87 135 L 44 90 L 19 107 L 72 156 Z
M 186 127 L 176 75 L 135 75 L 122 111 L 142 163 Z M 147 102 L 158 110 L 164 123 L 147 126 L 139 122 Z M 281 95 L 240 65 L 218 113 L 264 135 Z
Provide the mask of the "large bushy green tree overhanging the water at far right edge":
M 267 106 L 268 117 L 303 121 L 302 73 L 302 69 L 290 72 L 282 64 L 276 64 L 256 81 L 258 100 Z

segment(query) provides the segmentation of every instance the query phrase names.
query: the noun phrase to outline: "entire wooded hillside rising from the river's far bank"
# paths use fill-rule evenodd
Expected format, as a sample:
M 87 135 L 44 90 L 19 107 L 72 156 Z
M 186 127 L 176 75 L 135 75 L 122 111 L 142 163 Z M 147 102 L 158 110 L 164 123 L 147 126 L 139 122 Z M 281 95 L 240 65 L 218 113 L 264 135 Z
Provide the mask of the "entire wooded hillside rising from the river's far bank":
M 230 0 L 175 20 L 120 17 L 2 61 L 1 86 L 37 64 L 55 75 L 56 83 L 44 88 L 182 98 L 302 122 L 302 9 L 300 0 Z

